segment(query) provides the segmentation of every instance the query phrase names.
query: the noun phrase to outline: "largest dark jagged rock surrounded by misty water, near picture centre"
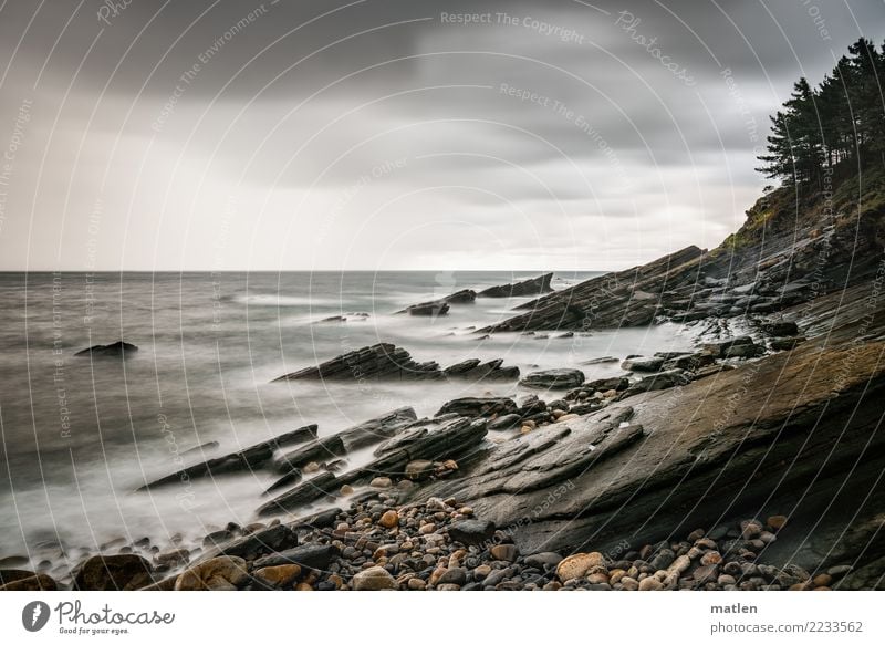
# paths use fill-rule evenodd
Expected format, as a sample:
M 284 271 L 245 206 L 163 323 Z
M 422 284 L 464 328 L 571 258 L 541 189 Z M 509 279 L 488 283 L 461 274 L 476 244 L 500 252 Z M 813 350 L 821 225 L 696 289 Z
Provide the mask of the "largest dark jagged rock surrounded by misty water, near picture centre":
M 298 372 L 284 374 L 277 381 L 337 379 L 361 381 L 364 378 L 425 379 L 440 378 L 439 365 L 434 362 L 416 363 L 412 355 L 391 343 L 378 343 L 354 350 Z

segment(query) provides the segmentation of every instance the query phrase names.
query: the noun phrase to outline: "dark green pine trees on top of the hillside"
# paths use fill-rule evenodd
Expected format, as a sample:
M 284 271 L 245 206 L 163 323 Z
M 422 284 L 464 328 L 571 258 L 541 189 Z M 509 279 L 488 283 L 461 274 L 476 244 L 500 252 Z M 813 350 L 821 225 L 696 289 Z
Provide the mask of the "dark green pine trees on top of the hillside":
M 784 184 L 820 187 L 824 170 L 863 169 L 885 164 L 885 44 L 864 38 L 848 48 L 833 72 L 812 89 L 793 86 L 783 108 L 771 117 L 767 155 L 758 170 Z

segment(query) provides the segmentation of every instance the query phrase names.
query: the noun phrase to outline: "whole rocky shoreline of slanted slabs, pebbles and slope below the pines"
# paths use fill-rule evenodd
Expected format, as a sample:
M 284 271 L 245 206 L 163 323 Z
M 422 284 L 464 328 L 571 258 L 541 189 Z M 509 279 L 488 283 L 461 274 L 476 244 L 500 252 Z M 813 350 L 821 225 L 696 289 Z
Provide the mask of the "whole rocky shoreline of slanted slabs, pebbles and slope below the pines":
M 431 418 L 405 407 L 332 435 L 305 426 L 162 475 L 133 495 L 275 479 L 248 526 L 97 551 L 37 545 L 0 560 L 0 589 L 885 587 L 882 212 L 824 225 L 818 202 L 794 217 L 788 194 L 714 251 L 541 295 L 478 332 L 671 321 L 694 350 L 589 356 L 622 368 L 591 381 L 500 360 L 442 368 L 386 343 L 347 352 L 277 381 L 493 378 L 522 394 L 450 400 Z M 450 302 L 416 306 L 437 315 Z M 368 462 L 351 464 L 357 449 Z

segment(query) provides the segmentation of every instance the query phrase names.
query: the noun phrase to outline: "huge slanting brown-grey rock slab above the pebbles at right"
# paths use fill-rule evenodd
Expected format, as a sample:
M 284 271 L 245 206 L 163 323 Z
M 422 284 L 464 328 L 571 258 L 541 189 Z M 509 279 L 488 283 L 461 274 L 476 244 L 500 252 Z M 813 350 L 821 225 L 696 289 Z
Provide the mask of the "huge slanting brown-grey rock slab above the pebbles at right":
M 850 343 L 852 335 L 844 337 Z M 845 543 L 846 522 L 856 521 L 860 504 L 881 487 L 883 459 L 870 456 L 885 455 L 883 352 L 885 342 L 837 348 L 808 342 L 678 392 L 637 394 L 497 445 L 475 469 L 429 482 L 421 495 L 454 497 L 509 527 L 523 553 L 617 551 L 627 533 L 635 533 L 633 544 L 653 544 L 678 527 L 714 526 L 721 520 L 721 491 L 732 491 L 736 514 L 801 502 L 808 528 L 795 524 L 793 511 L 798 538 L 781 531 L 767 553 L 782 549 L 784 559 L 795 554 L 796 564 L 818 566 L 820 553 Z M 825 540 L 796 551 L 808 535 L 823 535 L 821 513 L 845 519 Z M 835 563 L 851 558 L 835 555 L 842 559 Z

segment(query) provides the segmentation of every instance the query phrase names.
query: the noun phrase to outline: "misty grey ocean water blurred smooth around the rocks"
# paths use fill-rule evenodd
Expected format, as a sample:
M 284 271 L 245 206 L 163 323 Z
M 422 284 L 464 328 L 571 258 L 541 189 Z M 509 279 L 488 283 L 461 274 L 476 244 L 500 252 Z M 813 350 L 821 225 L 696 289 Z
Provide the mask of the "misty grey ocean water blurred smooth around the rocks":
M 254 521 L 263 472 L 134 492 L 185 465 L 306 424 L 330 435 L 400 406 L 431 416 L 457 396 L 510 395 L 514 383 L 271 383 L 377 342 L 442 366 L 503 358 L 523 372 L 589 358 L 686 348 L 675 325 L 572 339 L 477 327 L 528 299 L 480 299 L 436 319 L 397 315 L 416 302 L 532 274 L 511 272 L 0 274 L 0 558 L 37 560 L 54 543 L 95 551 L 116 538 L 200 539 Z M 563 289 L 594 273 L 561 273 Z M 365 312 L 363 321 L 319 322 Z M 126 361 L 74 353 L 125 340 Z M 589 378 L 617 363 L 583 367 Z M 525 391 L 528 392 L 528 391 Z M 553 398 L 548 395 L 546 398 Z M 219 447 L 185 454 L 209 441 Z M 367 455 L 348 457 L 358 465 Z

